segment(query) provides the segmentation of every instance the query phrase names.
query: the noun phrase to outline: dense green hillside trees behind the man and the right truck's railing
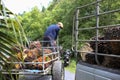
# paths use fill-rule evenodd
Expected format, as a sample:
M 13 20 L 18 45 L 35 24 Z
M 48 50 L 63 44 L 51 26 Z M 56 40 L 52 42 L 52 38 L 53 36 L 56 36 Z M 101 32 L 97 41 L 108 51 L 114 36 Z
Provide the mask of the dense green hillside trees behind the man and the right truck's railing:
M 22 24 L 25 29 L 25 33 L 30 40 L 42 39 L 43 34 L 47 26 L 55 24 L 59 21 L 63 22 L 64 29 L 59 33 L 59 43 L 64 48 L 71 48 L 72 46 L 72 27 L 75 10 L 77 7 L 88 4 L 96 0 L 53 0 L 47 9 L 42 8 L 40 11 L 37 7 L 34 7 L 30 12 L 22 15 Z M 100 3 L 100 13 L 108 10 L 119 8 L 119 0 L 103 0 Z M 89 6 L 84 9 L 80 9 L 80 16 L 94 15 L 96 12 L 95 6 Z M 117 19 L 117 21 L 116 21 Z M 120 14 L 107 14 L 100 18 L 100 26 L 119 23 Z M 85 19 L 79 23 L 81 27 L 95 27 L 96 19 Z M 80 39 L 89 39 L 95 34 L 94 31 L 87 30 L 80 32 Z

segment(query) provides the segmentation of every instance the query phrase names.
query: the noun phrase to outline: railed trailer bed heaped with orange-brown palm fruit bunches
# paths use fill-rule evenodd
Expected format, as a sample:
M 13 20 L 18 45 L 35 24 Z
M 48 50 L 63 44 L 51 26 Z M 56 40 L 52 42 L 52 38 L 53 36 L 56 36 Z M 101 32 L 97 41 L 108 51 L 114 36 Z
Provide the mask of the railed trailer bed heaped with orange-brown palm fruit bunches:
M 52 63 L 59 60 L 59 51 L 53 52 L 50 46 L 42 46 L 44 41 L 33 41 L 27 48 L 16 53 L 18 61 L 7 62 L 11 67 L 12 74 L 41 74 L 45 75 L 51 71 Z M 14 48 L 18 49 L 18 48 Z M 24 72 L 24 73 L 22 73 Z M 3 68 L 3 73 L 8 74 Z

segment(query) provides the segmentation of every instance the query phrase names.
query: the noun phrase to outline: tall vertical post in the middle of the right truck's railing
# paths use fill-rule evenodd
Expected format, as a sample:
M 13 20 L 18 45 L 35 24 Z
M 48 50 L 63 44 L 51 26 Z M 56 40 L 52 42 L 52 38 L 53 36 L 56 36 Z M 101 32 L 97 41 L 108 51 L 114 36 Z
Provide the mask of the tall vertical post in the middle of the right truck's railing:
M 98 35 L 99 35 L 99 0 L 96 0 L 96 50 L 95 50 L 95 60 L 97 64 L 99 65 L 99 61 L 97 58 L 98 53 Z

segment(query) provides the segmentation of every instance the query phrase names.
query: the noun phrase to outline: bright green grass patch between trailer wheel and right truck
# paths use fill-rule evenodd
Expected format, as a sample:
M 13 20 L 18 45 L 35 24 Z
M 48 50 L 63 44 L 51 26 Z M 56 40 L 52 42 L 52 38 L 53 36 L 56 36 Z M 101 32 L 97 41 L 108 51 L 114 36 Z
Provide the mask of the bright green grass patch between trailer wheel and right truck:
M 70 64 L 67 67 L 65 67 L 65 69 L 72 73 L 75 73 L 75 70 L 76 70 L 75 58 L 71 58 Z

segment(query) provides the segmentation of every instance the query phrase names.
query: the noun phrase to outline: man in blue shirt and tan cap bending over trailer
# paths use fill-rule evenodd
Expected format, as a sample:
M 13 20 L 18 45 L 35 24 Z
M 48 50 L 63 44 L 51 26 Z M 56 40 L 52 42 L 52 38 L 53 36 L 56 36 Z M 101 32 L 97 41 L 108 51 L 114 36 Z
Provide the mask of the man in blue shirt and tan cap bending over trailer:
M 43 46 L 56 46 L 56 40 L 59 34 L 60 29 L 63 29 L 63 23 L 58 22 L 57 24 L 50 25 L 44 33 L 43 40 L 45 41 Z M 53 49 L 55 51 L 55 49 Z

